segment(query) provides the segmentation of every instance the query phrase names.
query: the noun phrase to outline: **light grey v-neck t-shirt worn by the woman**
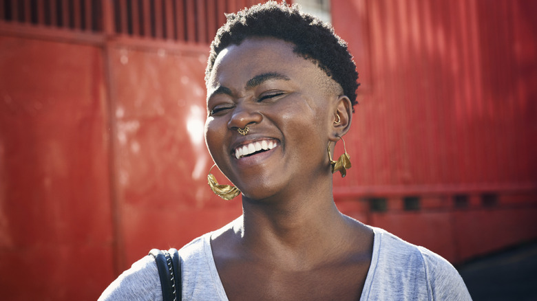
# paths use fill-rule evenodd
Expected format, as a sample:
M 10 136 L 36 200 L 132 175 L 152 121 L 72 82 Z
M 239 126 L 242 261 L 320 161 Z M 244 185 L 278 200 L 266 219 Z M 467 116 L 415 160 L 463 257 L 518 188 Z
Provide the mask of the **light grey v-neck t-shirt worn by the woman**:
M 360 300 L 472 300 L 447 260 L 380 228 Z M 211 251 L 211 233 L 180 249 L 182 300 L 228 300 Z M 145 256 L 124 271 L 99 301 L 162 300 L 155 260 Z

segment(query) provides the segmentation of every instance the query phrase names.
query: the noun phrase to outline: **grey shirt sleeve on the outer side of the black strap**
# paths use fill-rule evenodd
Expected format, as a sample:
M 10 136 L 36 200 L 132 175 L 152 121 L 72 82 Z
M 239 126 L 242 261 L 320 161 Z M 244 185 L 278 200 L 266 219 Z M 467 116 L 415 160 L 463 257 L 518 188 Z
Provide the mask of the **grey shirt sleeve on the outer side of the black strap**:
M 145 256 L 112 282 L 98 301 L 162 300 L 162 289 L 154 258 Z

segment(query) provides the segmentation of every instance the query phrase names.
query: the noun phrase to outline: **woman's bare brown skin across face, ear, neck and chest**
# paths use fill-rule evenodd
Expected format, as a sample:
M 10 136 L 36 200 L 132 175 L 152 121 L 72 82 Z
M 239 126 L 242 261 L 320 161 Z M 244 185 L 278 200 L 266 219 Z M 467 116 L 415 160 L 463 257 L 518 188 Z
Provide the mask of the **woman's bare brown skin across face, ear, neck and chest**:
M 373 234 L 333 201 L 326 147 L 352 118 L 339 84 L 293 44 L 249 38 L 218 55 L 207 112 L 209 152 L 242 192 L 242 216 L 211 237 L 229 300 L 358 300 Z M 260 140 L 277 146 L 235 157 Z

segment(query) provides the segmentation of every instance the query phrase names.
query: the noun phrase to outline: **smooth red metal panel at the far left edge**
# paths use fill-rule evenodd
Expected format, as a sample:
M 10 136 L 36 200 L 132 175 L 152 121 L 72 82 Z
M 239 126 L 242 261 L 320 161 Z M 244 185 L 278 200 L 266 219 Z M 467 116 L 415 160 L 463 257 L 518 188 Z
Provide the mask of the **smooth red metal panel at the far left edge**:
M 0 36 L 3 300 L 89 300 L 114 276 L 101 49 Z

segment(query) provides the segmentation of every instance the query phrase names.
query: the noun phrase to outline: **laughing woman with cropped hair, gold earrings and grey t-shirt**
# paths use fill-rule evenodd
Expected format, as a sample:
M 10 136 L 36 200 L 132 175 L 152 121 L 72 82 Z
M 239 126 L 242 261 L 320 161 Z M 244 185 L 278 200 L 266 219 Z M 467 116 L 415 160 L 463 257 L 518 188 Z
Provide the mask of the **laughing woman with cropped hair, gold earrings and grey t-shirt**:
M 228 16 L 206 82 L 207 147 L 243 214 L 180 249 L 183 300 L 470 300 L 446 260 L 337 210 L 332 174 L 349 164 L 330 154 L 358 85 L 330 27 L 272 2 Z M 154 259 L 101 300 L 162 300 Z

